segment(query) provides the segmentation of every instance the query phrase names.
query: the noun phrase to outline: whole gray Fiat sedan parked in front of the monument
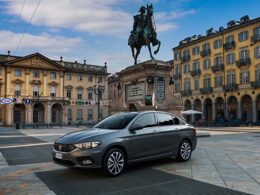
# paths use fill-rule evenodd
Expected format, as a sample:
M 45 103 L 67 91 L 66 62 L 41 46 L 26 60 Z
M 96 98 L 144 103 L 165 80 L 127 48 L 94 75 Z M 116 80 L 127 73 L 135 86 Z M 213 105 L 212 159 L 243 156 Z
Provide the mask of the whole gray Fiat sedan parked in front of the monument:
M 188 161 L 196 146 L 196 129 L 172 114 L 124 112 L 58 137 L 52 162 L 70 168 L 102 168 L 115 177 L 130 163 L 173 156 Z

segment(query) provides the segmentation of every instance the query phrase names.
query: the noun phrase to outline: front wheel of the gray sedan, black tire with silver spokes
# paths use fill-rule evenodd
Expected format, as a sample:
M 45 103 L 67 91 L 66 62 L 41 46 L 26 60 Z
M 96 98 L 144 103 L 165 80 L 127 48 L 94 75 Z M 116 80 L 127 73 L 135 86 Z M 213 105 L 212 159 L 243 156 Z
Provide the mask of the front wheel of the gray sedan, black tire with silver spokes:
M 118 148 L 107 150 L 103 157 L 102 171 L 109 177 L 116 177 L 125 168 L 125 154 Z

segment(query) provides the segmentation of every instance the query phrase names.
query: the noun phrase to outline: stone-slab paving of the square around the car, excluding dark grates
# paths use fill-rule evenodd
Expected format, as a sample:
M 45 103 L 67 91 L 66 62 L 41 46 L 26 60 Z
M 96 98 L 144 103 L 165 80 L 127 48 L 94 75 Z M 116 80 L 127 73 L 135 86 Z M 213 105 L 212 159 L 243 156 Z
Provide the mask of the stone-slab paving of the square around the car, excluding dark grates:
M 1 132 L 1 138 L 13 139 L 19 135 Z M 75 125 L 62 128 L 20 129 L 19 131 L 52 144 L 56 137 L 77 129 Z M 140 163 L 143 166 L 182 175 L 218 186 L 260 195 L 260 128 L 258 127 L 196 127 L 197 148 L 188 162 L 179 163 L 175 157 Z M 27 144 L 24 144 L 27 145 Z M 24 146 L 22 145 L 22 146 Z M 2 146 L 6 148 L 12 146 Z M 15 146 L 18 147 L 18 146 Z M 0 153 L 1 195 L 54 195 L 34 172 L 66 169 L 48 163 L 9 166 Z M 69 193 L 68 193 L 69 194 Z

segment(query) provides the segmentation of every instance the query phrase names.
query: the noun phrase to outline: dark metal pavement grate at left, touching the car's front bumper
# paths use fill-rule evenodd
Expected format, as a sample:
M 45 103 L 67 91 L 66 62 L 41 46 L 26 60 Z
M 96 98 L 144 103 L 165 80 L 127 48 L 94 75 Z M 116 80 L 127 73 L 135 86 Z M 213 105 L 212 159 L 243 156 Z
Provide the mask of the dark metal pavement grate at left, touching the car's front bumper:
M 1 141 L 1 139 L 0 139 Z M 53 144 L 0 148 L 5 161 L 10 165 L 34 164 L 52 161 Z

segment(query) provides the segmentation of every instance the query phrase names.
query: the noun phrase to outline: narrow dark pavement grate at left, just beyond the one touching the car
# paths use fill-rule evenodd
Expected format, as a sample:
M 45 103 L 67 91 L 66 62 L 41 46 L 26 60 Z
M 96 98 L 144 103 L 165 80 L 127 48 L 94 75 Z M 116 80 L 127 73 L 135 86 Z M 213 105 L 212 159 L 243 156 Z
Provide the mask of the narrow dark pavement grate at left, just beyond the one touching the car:
M 42 141 L 41 139 L 37 139 L 35 137 L 1 137 L 0 136 L 0 147 L 5 146 L 19 146 L 19 145 L 28 145 L 28 144 L 34 144 L 34 143 L 48 143 L 45 141 Z

